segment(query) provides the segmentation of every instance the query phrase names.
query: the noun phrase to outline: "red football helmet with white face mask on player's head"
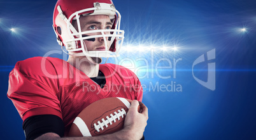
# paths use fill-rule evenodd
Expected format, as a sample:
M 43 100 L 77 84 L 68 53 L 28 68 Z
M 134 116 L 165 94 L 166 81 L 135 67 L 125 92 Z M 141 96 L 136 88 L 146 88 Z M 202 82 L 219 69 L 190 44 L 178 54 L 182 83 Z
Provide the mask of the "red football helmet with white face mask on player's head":
M 108 15 L 113 21 L 111 29 L 82 32 L 80 16 Z M 76 20 L 78 29 L 72 25 Z M 53 29 L 60 46 L 65 46 L 71 55 L 89 57 L 116 57 L 124 41 L 124 30 L 120 30 L 121 15 L 111 0 L 59 0 L 53 11 Z M 106 34 L 109 32 L 109 34 Z M 97 35 L 85 35 L 97 33 Z M 105 51 L 87 51 L 85 39 L 103 37 Z M 110 46 L 107 46 L 109 38 Z M 65 52 L 65 51 L 64 51 Z M 66 52 L 65 52 L 66 53 Z M 68 53 L 69 54 L 69 53 Z

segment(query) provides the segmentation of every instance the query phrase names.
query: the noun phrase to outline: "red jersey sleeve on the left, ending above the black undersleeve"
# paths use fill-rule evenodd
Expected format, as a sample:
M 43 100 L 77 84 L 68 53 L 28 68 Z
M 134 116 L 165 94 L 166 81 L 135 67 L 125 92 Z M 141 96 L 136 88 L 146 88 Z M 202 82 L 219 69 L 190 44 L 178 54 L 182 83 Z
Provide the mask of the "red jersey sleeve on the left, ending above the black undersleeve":
M 47 114 L 62 118 L 56 75 L 55 68 L 46 58 L 17 62 L 9 75 L 7 96 L 22 120 Z

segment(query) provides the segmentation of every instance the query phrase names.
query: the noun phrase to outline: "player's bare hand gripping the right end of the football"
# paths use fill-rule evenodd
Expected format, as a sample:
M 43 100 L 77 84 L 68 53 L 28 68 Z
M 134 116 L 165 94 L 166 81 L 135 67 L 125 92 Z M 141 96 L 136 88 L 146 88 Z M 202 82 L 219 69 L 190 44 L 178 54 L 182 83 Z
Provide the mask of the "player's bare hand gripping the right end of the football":
M 138 106 L 141 112 L 138 112 Z M 141 102 L 132 101 L 131 107 L 125 116 L 124 130 L 127 130 L 132 139 L 141 139 L 148 120 L 148 108 Z

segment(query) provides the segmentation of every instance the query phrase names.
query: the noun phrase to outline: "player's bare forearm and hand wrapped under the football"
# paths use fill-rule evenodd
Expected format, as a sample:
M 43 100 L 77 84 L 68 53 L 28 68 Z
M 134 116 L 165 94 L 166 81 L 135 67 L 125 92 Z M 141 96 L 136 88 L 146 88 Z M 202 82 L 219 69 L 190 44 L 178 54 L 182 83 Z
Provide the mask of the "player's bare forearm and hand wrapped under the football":
M 148 120 L 148 108 L 141 104 L 141 113 L 138 112 L 139 102 L 134 100 L 131 103 L 131 107 L 127 115 L 125 116 L 124 129 L 115 132 L 113 134 L 97 136 L 97 137 L 60 137 L 56 133 L 48 132 L 36 138 L 36 140 L 46 139 L 141 139 L 146 127 L 146 121 Z

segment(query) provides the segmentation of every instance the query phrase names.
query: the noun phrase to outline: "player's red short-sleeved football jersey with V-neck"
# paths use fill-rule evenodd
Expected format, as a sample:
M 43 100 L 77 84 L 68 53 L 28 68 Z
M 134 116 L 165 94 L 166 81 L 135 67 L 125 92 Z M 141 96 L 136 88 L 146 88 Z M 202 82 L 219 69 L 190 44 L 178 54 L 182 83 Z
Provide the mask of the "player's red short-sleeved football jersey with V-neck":
M 99 65 L 106 77 L 101 88 L 85 73 L 59 58 L 35 57 L 18 61 L 10 72 L 8 98 L 22 120 L 34 115 L 57 115 L 65 125 L 66 136 L 73 120 L 99 99 L 122 97 L 142 100 L 138 77 L 120 65 Z

